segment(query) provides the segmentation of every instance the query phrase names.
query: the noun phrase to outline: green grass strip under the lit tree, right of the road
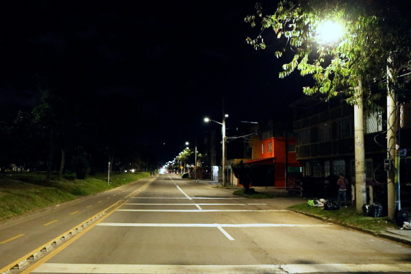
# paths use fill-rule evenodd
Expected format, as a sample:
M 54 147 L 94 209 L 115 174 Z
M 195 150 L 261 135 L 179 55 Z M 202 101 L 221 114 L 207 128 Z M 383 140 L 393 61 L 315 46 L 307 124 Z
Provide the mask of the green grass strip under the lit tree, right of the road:
M 339 210 L 323 210 L 323 207 L 308 206 L 307 203 L 290 206 L 288 209 L 304 214 L 317 216 L 327 221 L 336 221 L 343 225 L 349 225 L 358 229 L 369 230 L 378 234 L 386 229 L 397 229 L 397 225 L 388 221 L 387 217 L 374 218 L 363 216 L 356 211 L 356 208 L 340 208 Z

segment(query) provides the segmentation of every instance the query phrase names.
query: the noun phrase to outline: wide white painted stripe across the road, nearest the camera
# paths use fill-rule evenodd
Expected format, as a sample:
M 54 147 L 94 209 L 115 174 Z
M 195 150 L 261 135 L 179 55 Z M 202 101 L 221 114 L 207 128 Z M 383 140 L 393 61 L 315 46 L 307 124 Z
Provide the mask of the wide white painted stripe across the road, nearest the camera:
M 410 273 L 411 264 L 55 264 L 45 263 L 32 273 Z

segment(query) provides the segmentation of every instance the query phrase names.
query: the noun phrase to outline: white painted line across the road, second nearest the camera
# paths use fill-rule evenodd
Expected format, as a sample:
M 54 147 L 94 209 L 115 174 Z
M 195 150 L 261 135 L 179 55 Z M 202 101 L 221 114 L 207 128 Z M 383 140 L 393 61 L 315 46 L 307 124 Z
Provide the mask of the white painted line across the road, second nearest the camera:
M 330 227 L 331 225 L 304 225 L 292 223 L 97 223 L 106 227 Z

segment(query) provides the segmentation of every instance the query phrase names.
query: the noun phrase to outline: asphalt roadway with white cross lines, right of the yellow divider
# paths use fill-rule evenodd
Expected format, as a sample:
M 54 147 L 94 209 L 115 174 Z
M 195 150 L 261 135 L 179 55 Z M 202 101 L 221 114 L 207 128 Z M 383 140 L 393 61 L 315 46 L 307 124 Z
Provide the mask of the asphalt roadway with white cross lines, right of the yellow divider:
M 286 198 L 151 181 L 23 273 L 411 273 L 410 247 L 285 210 Z

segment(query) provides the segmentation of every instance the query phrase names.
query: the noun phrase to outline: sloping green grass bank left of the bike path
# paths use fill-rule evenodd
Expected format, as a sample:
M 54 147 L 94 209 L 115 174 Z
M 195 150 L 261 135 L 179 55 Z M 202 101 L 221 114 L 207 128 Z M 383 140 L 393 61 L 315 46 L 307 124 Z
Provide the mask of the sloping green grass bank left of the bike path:
M 86 179 L 51 176 L 51 184 L 46 186 L 45 173 L 5 173 L 0 174 L 0 221 L 36 212 L 42 208 L 71 201 L 77 197 L 92 195 L 123 184 L 135 182 L 149 176 L 149 173 L 122 173 L 89 175 Z

